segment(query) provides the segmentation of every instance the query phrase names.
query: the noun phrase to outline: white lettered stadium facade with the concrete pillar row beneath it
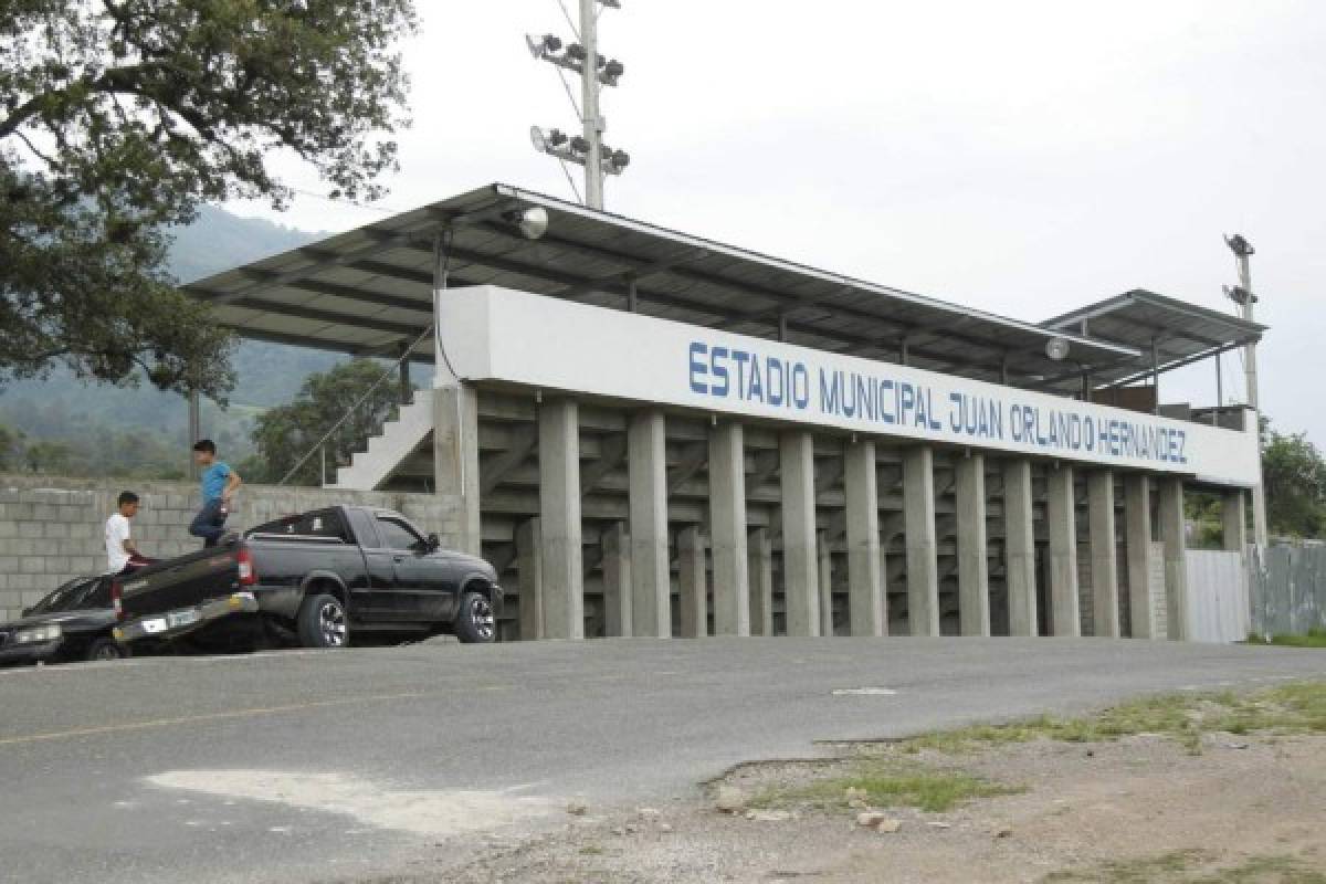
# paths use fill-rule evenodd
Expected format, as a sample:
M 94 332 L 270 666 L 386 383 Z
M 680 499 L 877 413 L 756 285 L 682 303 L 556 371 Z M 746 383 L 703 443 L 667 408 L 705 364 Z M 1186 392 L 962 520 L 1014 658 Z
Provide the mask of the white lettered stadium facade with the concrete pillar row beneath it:
M 1241 500 L 1254 455 L 1246 432 L 540 296 L 467 289 L 443 310 L 467 380 L 436 395 L 432 474 L 461 492 L 463 535 L 514 571 L 505 637 L 1166 637 L 1151 541 L 1181 606 L 1183 486 Z M 591 326 L 597 364 L 548 350 Z M 762 367 L 760 402 L 715 347 Z M 849 371 L 867 378 L 853 415 L 831 386 Z M 1002 428 L 955 429 L 965 408 Z M 1124 429 L 1151 433 L 1146 455 Z

